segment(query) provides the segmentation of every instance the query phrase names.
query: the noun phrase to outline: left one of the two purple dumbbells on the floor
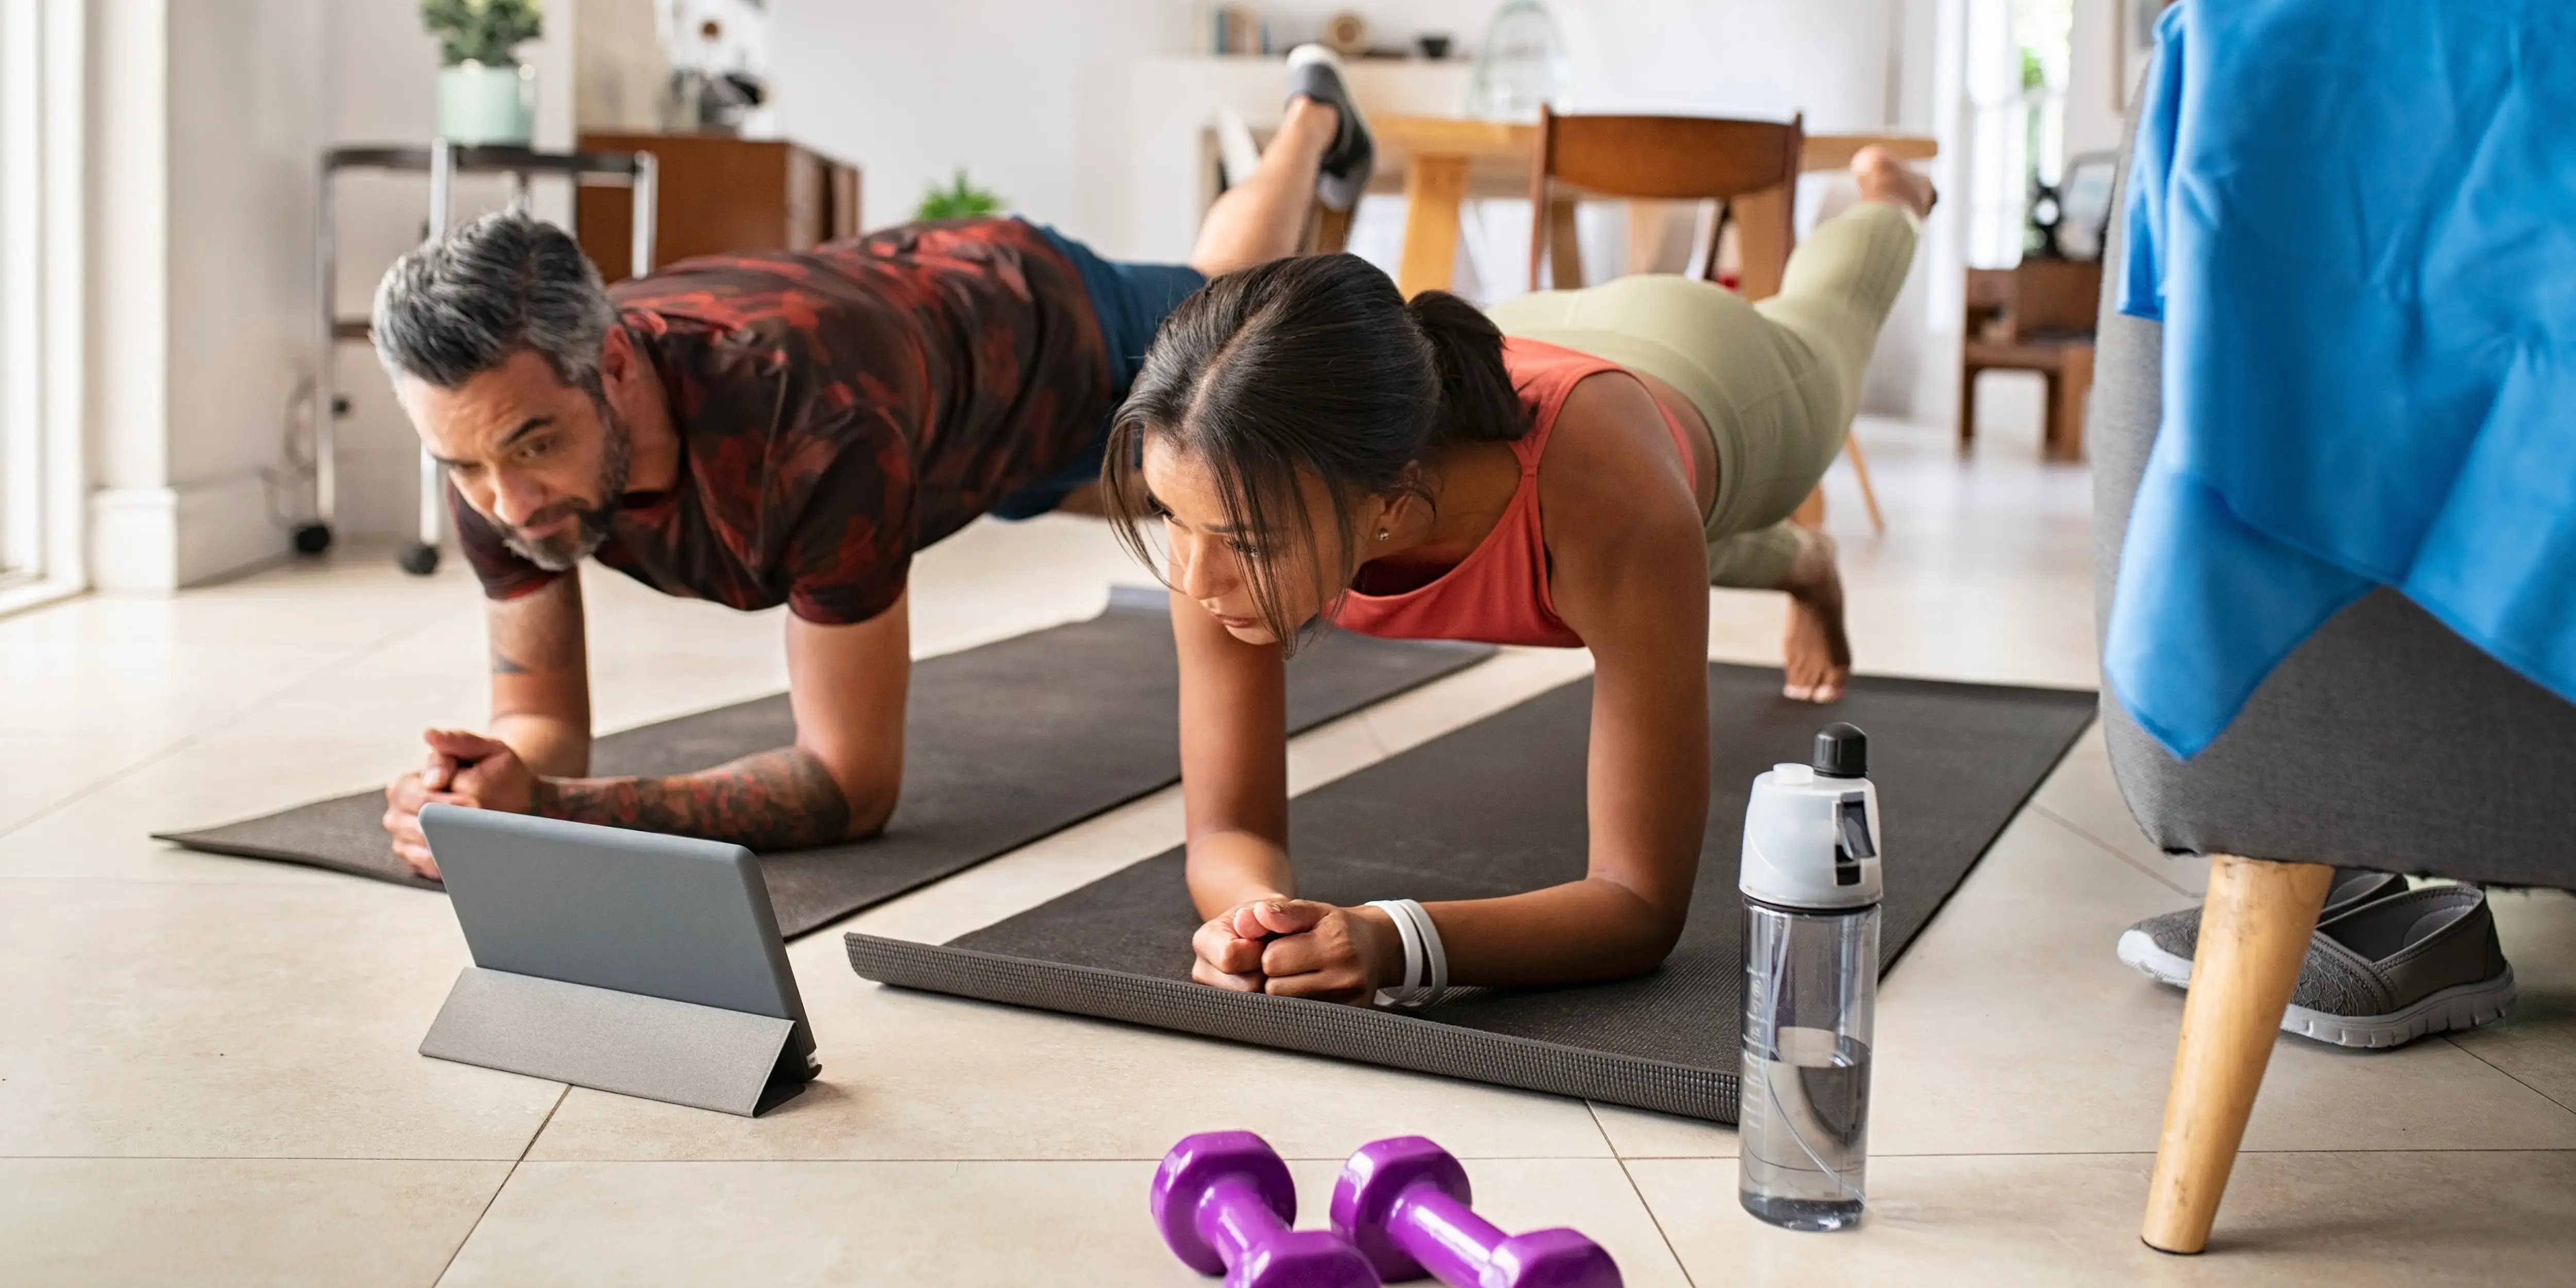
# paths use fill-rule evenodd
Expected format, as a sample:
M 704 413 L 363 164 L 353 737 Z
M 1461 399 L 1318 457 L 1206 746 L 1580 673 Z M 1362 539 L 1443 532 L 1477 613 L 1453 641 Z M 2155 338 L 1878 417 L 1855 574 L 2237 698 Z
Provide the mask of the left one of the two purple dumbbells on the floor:
M 1350 1244 L 1296 1221 L 1296 1182 L 1270 1141 L 1200 1131 L 1154 1172 L 1154 1226 L 1190 1270 L 1226 1288 L 1378 1288 Z

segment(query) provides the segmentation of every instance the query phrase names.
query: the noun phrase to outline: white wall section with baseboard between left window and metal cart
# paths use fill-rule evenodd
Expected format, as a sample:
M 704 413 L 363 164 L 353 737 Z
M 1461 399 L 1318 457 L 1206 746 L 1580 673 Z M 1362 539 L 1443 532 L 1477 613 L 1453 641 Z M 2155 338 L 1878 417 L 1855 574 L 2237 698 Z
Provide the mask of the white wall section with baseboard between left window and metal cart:
M 90 577 L 167 590 L 286 551 L 260 466 L 309 358 L 322 0 L 93 10 Z

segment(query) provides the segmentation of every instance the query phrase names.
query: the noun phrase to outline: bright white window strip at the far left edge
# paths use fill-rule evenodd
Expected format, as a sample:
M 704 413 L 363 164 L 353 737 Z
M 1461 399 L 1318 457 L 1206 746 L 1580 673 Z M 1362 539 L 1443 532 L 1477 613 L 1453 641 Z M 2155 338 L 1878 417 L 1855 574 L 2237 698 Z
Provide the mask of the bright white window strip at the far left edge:
M 0 608 L 80 590 L 82 3 L 0 3 Z

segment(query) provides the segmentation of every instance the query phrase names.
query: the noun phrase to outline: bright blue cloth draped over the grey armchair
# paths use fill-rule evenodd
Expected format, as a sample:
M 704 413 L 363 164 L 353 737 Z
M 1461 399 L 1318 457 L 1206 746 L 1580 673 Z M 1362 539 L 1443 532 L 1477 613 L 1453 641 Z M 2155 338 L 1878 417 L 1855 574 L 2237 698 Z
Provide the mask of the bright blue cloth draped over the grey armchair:
M 2391 585 L 2576 701 L 2576 5 L 2182 0 L 2156 36 L 2112 690 L 2190 757 Z

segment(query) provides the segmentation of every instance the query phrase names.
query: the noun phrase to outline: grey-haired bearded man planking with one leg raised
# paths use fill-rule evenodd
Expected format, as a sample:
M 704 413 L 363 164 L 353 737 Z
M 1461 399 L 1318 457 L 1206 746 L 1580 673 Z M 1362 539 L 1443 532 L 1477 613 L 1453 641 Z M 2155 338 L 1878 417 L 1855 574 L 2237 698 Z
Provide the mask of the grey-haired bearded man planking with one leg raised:
M 1020 219 L 716 255 L 608 291 L 562 229 L 492 214 L 397 263 L 376 355 L 448 466 L 484 585 L 492 726 L 430 729 L 384 829 L 435 876 L 448 801 L 783 850 L 894 814 L 912 551 L 976 515 L 1097 513 L 1105 417 L 1208 276 L 1350 206 L 1370 139 L 1321 49 L 1188 265 L 1123 265 Z M 796 744 L 670 778 L 587 778 L 582 556 L 662 590 L 788 605 Z

